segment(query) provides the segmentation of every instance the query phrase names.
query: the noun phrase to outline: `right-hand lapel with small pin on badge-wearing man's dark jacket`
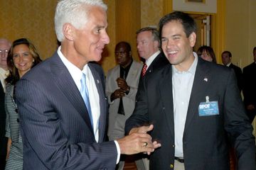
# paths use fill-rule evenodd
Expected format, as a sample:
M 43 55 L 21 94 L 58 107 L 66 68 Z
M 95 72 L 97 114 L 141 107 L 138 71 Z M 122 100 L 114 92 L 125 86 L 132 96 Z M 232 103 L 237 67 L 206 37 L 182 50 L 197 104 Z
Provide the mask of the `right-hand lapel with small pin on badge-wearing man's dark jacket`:
M 203 101 L 200 101 L 201 98 L 205 98 L 205 101 L 206 101 L 206 96 L 203 96 L 203 95 L 206 94 L 205 91 L 209 88 L 208 85 L 210 81 L 211 81 L 211 77 L 209 74 L 209 69 L 208 67 L 206 67 L 206 64 L 203 62 L 203 60 L 200 57 L 198 57 L 196 74 L 193 80 L 191 97 L 188 103 L 188 113 L 186 117 L 184 135 L 186 133 L 186 130 L 189 128 L 189 125 L 191 124 L 191 120 L 193 119 L 195 114 L 198 114 L 198 106 L 199 106 L 198 103 L 203 102 Z

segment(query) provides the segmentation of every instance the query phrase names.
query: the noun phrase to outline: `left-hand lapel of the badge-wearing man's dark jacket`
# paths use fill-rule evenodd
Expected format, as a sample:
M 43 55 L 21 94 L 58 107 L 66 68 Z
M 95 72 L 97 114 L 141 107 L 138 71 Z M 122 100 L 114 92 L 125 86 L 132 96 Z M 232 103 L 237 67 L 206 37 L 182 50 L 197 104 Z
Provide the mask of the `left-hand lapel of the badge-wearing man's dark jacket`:
M 168 64 L 161 74 L 159 89 L 162 102 L 164 103 L 165 116 L 169 125 L 169 130 L 171 131 L 171 136 L 174 137 L 174 102 L 172 97 L 173 93 L 171 64 Z

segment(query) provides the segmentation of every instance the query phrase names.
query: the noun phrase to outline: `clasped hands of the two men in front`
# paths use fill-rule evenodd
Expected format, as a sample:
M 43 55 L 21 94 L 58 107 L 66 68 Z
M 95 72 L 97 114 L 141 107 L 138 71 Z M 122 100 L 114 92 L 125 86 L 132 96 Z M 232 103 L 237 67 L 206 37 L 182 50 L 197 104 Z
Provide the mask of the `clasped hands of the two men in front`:
M 151 154 L 156 148 L 161 147 L 161 144 L 152 142 L 151 136 L 147 132 L 153 130 L 154 125 L 132 128 L 129 135 L 117 140 L 121 154 L 137 154 L 144 152 Z

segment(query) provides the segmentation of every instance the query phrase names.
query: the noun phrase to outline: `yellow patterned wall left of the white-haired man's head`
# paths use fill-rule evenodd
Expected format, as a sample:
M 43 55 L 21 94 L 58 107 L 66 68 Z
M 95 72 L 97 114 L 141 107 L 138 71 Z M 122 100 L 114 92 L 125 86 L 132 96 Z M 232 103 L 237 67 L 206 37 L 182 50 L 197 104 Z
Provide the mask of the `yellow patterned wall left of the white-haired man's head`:
M 29 38 L 42 59 L 53 55 L 57 44 L 54 13 L 57 0 L 0 0 L 0 37 Z

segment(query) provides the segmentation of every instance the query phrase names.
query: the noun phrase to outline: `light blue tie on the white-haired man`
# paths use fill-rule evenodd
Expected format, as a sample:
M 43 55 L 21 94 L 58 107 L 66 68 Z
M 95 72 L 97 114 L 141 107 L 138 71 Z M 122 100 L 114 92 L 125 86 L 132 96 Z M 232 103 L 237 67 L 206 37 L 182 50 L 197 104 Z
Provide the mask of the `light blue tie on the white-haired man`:
M 85 76 L 84 73 L 82 73 L 82 78 L 81 78 L 80 94 L 82 95 L 82 99 L 85 102 L 85 106 L 86 106 L 87 111 L 89 113 L 90 121 L 91 121 L 92 128 L 93 128 L 92 111 L 91 111 L 91 108 L 90 108 L 90 98 L 89 98 L 89 93 L 88 93 L 88 89 L 87 89 L 87 86 L 86 86 L 86 76 Z

